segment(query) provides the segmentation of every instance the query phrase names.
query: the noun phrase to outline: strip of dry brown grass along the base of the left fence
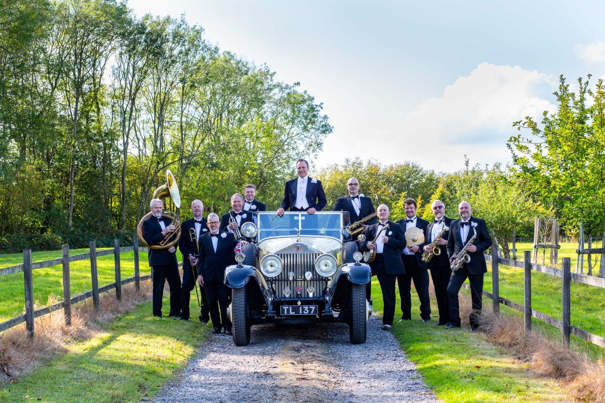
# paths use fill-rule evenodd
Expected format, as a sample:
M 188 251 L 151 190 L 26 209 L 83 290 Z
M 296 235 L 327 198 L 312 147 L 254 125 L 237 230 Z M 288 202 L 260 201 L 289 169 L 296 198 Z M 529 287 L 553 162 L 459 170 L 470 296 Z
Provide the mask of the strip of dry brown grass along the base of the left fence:
M 100 312 L 94 312 L 88 299 L 71 307 L 71 326 L 65 326 L 63 311 L 59 310 L 34 320 L 34 337 L 28 338 L 25 324 L 6 330 L 0 337 L 1 381 L 16 381 L 17 376 L 31 372 L 53 356 L 64 353 L 74 341 L 88 340 L 99 334 L 99 324 L 132 311 L 136 305 L 151 300 L 151 281 L 141 283 L 140 291 L 134 284 L 122 288 L 122 301 L 114 292 L 100 296 Z M 3 379 L 4 378 L 4 379 Z

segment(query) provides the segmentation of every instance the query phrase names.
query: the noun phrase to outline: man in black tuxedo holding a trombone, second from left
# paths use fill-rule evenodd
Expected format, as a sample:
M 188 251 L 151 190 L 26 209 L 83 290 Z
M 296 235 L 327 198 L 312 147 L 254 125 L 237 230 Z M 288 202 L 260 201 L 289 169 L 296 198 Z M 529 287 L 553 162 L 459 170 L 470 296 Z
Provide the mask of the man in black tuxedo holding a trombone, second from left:
M 191 202 L 193 218 L 181 223 L 181 239 L 178 249 L 183 254 L 183 284 L 181 285 L 181 315 L 175 319 L 189 320 L 189 297 L 197 279 L 197 258 L 199 256 L 199 239 L 208 232 L 206 219 L 203 217 L 204 204 L 195 199 Z M 195 291 L 197 294 L 197 290 Z M 203 323 L 210 320 L 208 301 L 204 289 L 200 287 L 201 308 L 198 318 Z

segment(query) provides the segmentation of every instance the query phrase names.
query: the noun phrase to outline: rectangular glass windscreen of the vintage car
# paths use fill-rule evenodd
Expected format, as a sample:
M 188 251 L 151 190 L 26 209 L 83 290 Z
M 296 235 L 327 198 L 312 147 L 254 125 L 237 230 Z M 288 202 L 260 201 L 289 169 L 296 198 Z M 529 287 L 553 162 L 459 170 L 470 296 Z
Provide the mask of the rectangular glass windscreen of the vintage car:
M 345 211 L 286 211 L 282 217 L 273 211 L 258 213 L 258 240 L 273 236 L 329 236 L 341 239 Z

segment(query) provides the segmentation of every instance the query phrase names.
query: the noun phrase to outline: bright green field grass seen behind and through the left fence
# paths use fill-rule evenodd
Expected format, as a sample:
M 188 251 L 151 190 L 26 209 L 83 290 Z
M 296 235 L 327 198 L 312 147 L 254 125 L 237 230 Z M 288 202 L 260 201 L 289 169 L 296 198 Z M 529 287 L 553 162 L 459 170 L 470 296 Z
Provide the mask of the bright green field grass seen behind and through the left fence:
M 107 249 L 107 248 L 105 248 Z M 70 250 L 71 255 L 87 253 L 88 249 Z M 50 260 L 61 257 L 61 251 L 33 252 L 33 262 Z M 0 255 L 0 267 L 23 263 L 23 255 L 19 253 Z M 120 254 L 120 271 L 122 279 L 134 276 L 134 252 Z M 147 253 L 139 252 L 139 271 L 141 276 L 149 274 Z M 114 256 L 97 257 L 97 272 L 99 286 L 116 281 Z M 93 288 L 90 276 L 90 259 L 77 260 L 70 263 L 71 295 L 80 294 Z M 51 266 L 33 271 L 34 306 L 42 308 L 51 303 L 63 300 L 63 268 L 61 265 Z M 24 313 L 25 291 L 23 272 L 0 277 L 0 322 Z

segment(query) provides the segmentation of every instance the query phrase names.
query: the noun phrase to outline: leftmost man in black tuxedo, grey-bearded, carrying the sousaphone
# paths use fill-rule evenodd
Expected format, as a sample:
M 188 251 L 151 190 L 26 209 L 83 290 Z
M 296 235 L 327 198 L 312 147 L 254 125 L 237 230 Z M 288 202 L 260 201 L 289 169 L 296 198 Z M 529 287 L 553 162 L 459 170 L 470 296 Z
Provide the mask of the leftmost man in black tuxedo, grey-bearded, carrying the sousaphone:
M 143 221 L 143 238 L 148 245 L 159 245 L 166 234 L 174 231 L 175 226 L 172 225 L 171 219 L 162 216 L 164 207 L 162 199 L 152 199 L 149 207 L 152 215 Z M 153 315 L 160 318 L 162 317 L 162 294 L 166 281 L 170 288 L 169 316 L 176 317 L 180 314 L 181 279 L 178 276 L 176 251 L 175 247 L 170 247 L 168 250 L 149 248 L 147 254 L 153 277 Z

